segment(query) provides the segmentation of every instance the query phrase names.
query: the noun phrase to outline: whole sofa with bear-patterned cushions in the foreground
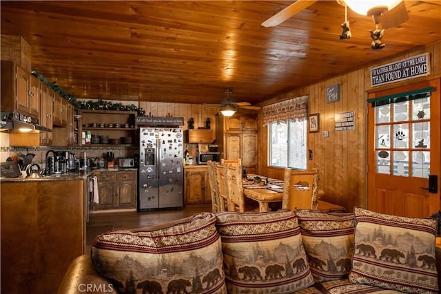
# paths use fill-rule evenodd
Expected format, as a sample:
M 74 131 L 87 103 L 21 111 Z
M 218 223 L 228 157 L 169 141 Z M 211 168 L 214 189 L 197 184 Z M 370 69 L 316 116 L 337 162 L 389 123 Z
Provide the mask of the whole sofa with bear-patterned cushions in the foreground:
M 361 207 L 196 213 L 97 236 L 58 293 L 440 293 L 436 232 Z

